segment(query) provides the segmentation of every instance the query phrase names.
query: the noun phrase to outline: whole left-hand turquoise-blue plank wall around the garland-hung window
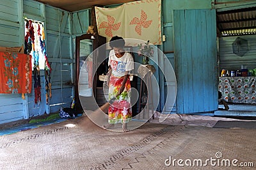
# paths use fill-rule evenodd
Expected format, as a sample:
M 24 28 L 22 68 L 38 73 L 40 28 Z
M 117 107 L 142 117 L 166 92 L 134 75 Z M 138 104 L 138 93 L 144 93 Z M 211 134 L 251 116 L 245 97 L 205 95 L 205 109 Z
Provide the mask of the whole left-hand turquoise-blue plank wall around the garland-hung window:
M 75 56 L 72 13 L 32 0 L 1 1 L 0 9 L 0 46 L 2 47 L 17 47 L 24 44 L 23 16 L 45 22 L 47 58 L 52 67 L 50 105 L 46 105 L 45 102 L 44 70 L 41 70 L 40 104 L 35 104 L 33 88 L 31 93 L 26 95 L 26 100 L 22 100 L 20 94 L 0 94 L 0 124 L 31 118 L 45 112 L 57 112 L 60 107 L 70 107 L 74 96 Z M 88 24 L 87 14 L 87 10 L 79 14 L 84 20 L 82 23 Z M 80 33 L 85 33 L 86 30 L 87 28 L 84 28 L 84 32 Z

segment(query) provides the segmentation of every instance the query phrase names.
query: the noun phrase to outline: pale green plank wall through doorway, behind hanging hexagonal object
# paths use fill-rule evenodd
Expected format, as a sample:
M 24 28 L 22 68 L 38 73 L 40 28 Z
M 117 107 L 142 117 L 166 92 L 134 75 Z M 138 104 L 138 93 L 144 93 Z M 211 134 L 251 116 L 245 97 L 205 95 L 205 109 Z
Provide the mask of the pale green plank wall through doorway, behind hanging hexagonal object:
M 248 69 L 256 68 L 256 35 L 239 36 L 248 41 L 249 50 L 244 56 L 237 56 L 232 49 L 232 43 L 238 36 L 222 37 L 219 39 L 220 70 L 240 70 L 241 65 Z

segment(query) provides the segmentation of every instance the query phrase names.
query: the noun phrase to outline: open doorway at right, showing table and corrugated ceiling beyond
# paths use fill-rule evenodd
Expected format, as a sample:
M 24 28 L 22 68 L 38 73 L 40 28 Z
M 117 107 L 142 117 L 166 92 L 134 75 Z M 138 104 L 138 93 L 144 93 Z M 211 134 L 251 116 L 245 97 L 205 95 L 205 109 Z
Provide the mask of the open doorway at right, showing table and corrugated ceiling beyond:
M 228 111 L 215 114 L 256 116 L 256 8 L 217 10 L 218 90 L 227 101 Z M 222 75 L 221 71 L 225 74 Z M 231 76 L 231 73 L 233 75 Z M 235 74 L 234 74 L 235 73 Z M 234 76 L 234 77 L 233 77 Z M 223 109 L 223 105 L 219 105 Z

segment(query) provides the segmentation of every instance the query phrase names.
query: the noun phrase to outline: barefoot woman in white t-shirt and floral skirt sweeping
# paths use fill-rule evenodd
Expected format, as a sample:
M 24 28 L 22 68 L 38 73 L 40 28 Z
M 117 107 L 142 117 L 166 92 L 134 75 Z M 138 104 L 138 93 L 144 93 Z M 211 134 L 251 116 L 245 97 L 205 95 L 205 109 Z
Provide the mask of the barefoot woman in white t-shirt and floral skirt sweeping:
M 122 123 L 124 132 L 127 131 L 127 123 L 132 118 L 131 108 L 131 82 L 129 73 L 134 68 L 132 55 L 124 50 L 125 41 L 120 36 L 113 36 L 109 42 L 109 100 L 116 97 L 108 110 L 108 125 L 113 127 L 115 123 Z

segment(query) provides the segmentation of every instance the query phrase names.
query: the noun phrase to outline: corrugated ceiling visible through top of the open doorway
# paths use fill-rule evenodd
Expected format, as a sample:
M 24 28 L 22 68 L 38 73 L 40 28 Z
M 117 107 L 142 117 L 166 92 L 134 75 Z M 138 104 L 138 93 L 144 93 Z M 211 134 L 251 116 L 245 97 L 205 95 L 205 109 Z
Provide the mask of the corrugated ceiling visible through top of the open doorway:
M 256 8 L 216 12 L 218 36 L 256 34 Z

